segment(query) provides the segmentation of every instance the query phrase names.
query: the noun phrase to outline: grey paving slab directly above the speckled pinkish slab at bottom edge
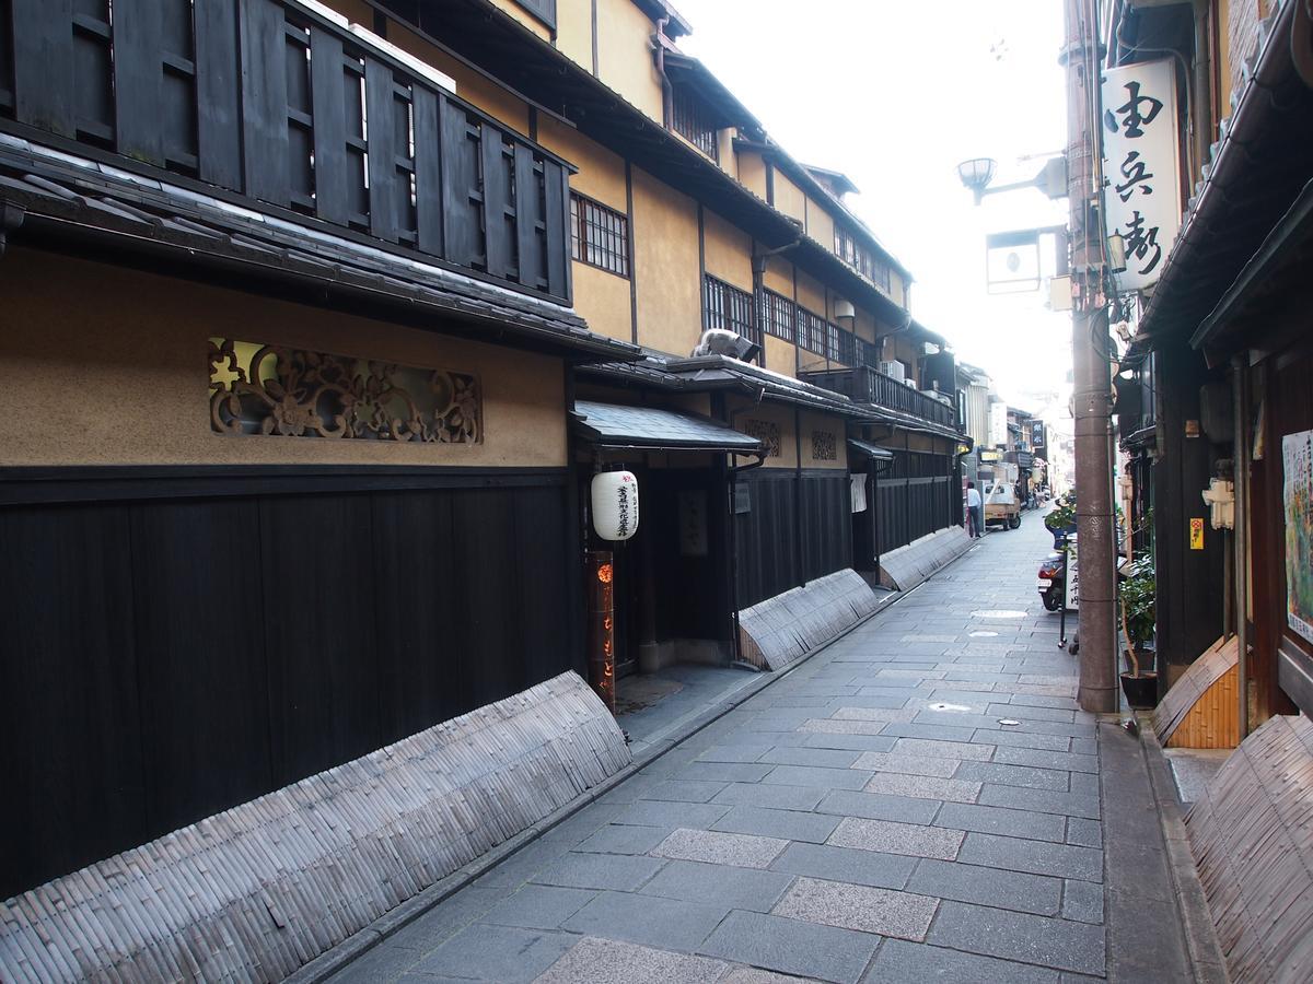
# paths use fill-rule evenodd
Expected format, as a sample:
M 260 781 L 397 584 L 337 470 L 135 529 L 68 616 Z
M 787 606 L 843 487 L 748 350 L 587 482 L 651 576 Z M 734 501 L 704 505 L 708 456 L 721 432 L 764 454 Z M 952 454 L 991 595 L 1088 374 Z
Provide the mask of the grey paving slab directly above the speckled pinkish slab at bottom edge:
M 603 892 L 561 925 L 572 933 L 692 951 L 727 913 L 725 905 Z

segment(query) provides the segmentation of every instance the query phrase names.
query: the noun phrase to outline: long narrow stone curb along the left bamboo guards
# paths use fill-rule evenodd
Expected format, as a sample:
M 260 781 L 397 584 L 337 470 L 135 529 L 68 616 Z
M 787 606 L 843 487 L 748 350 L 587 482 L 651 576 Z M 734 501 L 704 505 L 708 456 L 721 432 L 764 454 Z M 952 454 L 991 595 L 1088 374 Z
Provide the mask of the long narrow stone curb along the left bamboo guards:
M 940 571 L 952 567 L 952 564 L 955 564 L 957 560 L 961 560 L 964 556 L 966 556 L 965 552 L 960 554 L 958 556 L 953 558 L 947 564 L 940 567 L 937 571 L 935 571 L 935 573 L 937 575 Z M 930 577 L 924 579 L 920 584 L 924 584 L 928 580 Z M 412 895 L 400 905 L 391 909 L 387 914 L 382 916 L 381 918 L 369 924 L 364 929 L 347 937 L 344 941 L 337 943 L 331 950 L 326 950 L 324 953 L 319 954 L 319 956 L 312 959 L 310 963 L 302 966 L 294 974 L 285 977 L 284 979 L 285 984 L 322 984 L 322 981 L 328 980 L 328 977 L 337 974 L 337 971 L 344 970 L 348 964 L 361 958 L 369 950 L 373 950 L 387 937 L 393 935 L 398 930 L 410 925 L 420 916 L 427 913 L 429 909 L 433 909 L 441 903 L 446 901 L 450 896 L 456 895 L 458 891 L 461 891 L 478 878 L 486 875 L 491 869 L 500 865 L 512 854 L 516 854 L 521 849 L 527 848 L 533 841 L 542 837 L 542 834 L 551 830 L 554 827 L 559 825 L 565 820 L 569 820 L 571 816 L 578 813 L 584 807 L 590 806 L 591 803 L 596 802 L 601 796 L 611 792 L 611 790 L 616 789 L 616 786 L 622 783 L 625 779 L 646 769 L 649 765 L 651 765 L 663 754 L 675 748 L 675 745 L 680 744 L 685 739 L 692 737 L 693 735 L 696 735 L 699 731 L 712 724 L 713 722 L 720 720 L 739 705 L 744 703 L 752 697 L 756 697 L 756 694 L 759 694 L 765 687 L 779 682 L 780 680 L 784 680 L 794 670 L 801 669 L 802 665 L 810 661 L 810 659 L 817 653 L 822 652 L 830 646 L 834 646 L 846 635 L 848 635 L 850 632 L 855 632 L 857 628 L 867 625 L 867 622 L 872 621 L 882 611 L 888 611 L 890 607 L 897 605 L 903 598 L 914 594 L 916 592 L 916 588 L 920 588 L 920 584 L 909 590 L 897 592 L 892 598 L 889 598 L 874 611 L 861 617 L 851 626 L 844 628 L 842 632 L 835 634 L 831 639 L 826 639 L 823 643 L 819 643 L 818 646 L 813 647 L 802 656 L 800 656 L 797 660 L 785 666 L 783 670 L 777 670 L 775 673 L 762 673 L 759 680 L 755 680 L 747 684 L 746 686 L 739 687 L 738 690 L 734 691 L 731 697 L 722 701 L 717 701 L 704 711 L 693 712 L 687 719 L 687 723 L 683 727 L 676 727 L 660 740 L 654 741 L 649 748 L 645 748 L 630 765 L 625 766 L 611 778 L 597 783 L 587 792 L 579 794 L 572 800 L 566 803 L 563 807 L 553 811 L 538 823 L 517 833 L 515 837 L 503 841 L 486 854 L 481 854 L 478 858 L 465 865 L 463 867 L 457 869 L 446 878 L 442 878 L 431 884 L 424 891 Z

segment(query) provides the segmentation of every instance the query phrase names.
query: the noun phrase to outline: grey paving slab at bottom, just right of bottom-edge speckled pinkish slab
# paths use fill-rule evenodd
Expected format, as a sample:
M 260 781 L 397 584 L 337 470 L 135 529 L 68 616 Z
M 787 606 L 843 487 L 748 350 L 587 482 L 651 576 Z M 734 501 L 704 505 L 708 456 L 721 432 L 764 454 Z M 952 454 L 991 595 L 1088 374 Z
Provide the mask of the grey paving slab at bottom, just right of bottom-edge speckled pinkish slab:
M 731 912 L 701 951 L 737 963 L 850 984 L 876 951 L 878 937 L 814 922 Z

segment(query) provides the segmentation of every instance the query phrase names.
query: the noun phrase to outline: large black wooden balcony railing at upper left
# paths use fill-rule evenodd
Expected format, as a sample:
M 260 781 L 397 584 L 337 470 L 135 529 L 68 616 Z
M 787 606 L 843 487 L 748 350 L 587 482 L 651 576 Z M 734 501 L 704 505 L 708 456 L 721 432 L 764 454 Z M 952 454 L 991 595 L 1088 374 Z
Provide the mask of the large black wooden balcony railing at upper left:
M 0 129 L 570 303 L 570 165 L 302 4 L 0 0 Z

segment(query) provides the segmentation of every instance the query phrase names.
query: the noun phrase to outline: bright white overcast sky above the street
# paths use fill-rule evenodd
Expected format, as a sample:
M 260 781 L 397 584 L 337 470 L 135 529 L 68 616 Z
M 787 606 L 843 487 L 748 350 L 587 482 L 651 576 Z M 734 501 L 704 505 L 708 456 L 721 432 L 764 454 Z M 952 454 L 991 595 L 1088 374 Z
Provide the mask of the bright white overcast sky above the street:
M 1046 293 L 1001 297 L 985 287 L 985 234 L 1066 224 L 1066 202 L 1025 189 L 976 207 L 956 171 L 968 157 L 994 157 L 994 184 L 1024 181 L 1065 146 L 1062 4 L 675 5 L 693 26 L 681 50 L 702 59 L 797 160 L 857 185 L 847 203 L 911 270 L 918 320 L 985 369 L 1014 405 L 1037 409 L 1036 394 L 1067 391 L 1070 316 L 1048 311 Z

